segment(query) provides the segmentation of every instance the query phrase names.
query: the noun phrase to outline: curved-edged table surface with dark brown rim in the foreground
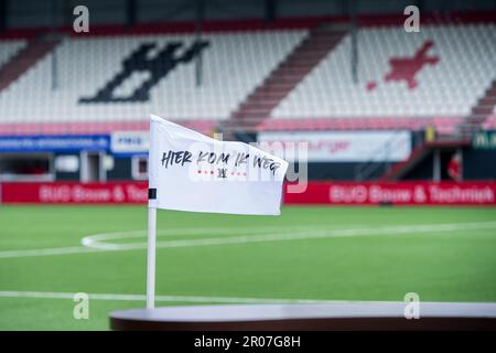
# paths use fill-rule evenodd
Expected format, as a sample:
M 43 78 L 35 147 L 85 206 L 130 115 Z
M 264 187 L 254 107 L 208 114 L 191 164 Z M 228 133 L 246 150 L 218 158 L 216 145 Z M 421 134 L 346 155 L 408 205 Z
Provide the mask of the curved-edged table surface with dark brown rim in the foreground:
M 402 302 L 190 306 L 115 311 L 112 330 L 308 331 L 496 330 L 496 303 L 421 303 L 407 320 Z

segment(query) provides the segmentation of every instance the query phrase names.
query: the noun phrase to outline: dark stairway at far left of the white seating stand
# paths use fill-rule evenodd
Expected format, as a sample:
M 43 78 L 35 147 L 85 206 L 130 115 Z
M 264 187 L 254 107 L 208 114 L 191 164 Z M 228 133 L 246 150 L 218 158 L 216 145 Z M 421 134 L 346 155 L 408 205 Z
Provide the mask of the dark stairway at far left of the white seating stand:
M 21 77 L 39 60 L 50 53 L 61 40 L 44 36 L 28 42 L 8 63 L 0 67 L 0 92 Z

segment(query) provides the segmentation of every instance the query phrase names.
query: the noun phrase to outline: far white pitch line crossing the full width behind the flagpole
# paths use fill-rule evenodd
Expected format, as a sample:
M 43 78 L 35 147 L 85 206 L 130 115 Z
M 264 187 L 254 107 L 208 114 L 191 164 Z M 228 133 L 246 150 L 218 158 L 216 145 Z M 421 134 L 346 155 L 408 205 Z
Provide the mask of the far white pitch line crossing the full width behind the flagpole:
M 246 227 L 245 227 L 246 228 Z M 259 235 L 241 235 L 241 236 L 226 236 L 226 237 L 209 237 L 195 239 L 179 239 L 158 242 L 157 248 L 176 248 L 176 247 L 192 247 L 192 246 L 211 246 L 211 245 L 229 245 L 229 244 L 248 244 L 248 243 L 265 243 L 265 242 L 282 242 L 282 240 L 298 240 L 298 239 L 316 239 L 331 237 L 352 237 L 352 236 L 381 236 L 381 235 L 400 235 L 400 234 L 419 234 L 419 233 L 443 233 L 456 231 L 474 231 L 496 228 L 496 222 L 477 222 L 477 223 L 449 223 L 449 224 L 423 224 L 423 225 L 402 225 L 388 226 L 376 228 L 348 228 L 348 229 L 325 229 L 317 227 L 308 227 L 305 231 L 298 228 L 281 228 L 278 233 L 259 234 Z M 251 228 L 257 233 L 257 227 Z M 111 233 L 106 234 L 112 239 L 134 237 L 139 231 Z M 202 232 L 209 232 L 208 228 Z M 229 232 L 237 232 L 230 229 Z M 292 232 L 292 233 L 291 233 Z M 132 235 L 131 235 L 132 234 Z M 120 235 L 120 237 L 119 237 Z M 98 235 L 101 238 L 101 234 Z M 85 246 L 80 247 L 57 247 L 44 249 L 21 249 L 21 250 L 4 250 L 0 252 L 0 258 L 18 258 L 32 256 L 53 256 L 53 255 L 68 255 L 68 254 L 85 254 L 96 252 L 127 252 L 145 249 L 145 243 L 132 244 L 111 244 L 95 240 L 87 236 L 82 239 Z M 89 247 L 90 246 L 90 247 Z

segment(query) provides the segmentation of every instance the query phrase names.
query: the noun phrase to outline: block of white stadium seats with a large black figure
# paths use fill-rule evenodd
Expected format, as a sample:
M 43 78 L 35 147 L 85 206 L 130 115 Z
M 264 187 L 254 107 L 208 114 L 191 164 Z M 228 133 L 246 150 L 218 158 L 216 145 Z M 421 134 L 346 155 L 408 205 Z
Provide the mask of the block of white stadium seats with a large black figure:
M 179 63 L 141 101 L 119 101 L 118 97 L 140 87 L 149 78 L 148 71 L 133 71 L 114 92 L 116 99 L 84 98 L 106 87 L 140 45 L 153 46 L 147 53 L 153 60 L 168 44 L 177 43 L 172 55 L 176 60 L 194 43 L 194 35 L 65 39 L 56 47 L 56 87 L 52 87 L 52 57 L 46 55 L 0 93 L 0 122 L 147 121 L 149 113 L 176 120 L 225 119 L 304 34 L 292 30 L 205 34 L 209 45 L 203 50 L 202 85 L 196 86 L 193 62 Z

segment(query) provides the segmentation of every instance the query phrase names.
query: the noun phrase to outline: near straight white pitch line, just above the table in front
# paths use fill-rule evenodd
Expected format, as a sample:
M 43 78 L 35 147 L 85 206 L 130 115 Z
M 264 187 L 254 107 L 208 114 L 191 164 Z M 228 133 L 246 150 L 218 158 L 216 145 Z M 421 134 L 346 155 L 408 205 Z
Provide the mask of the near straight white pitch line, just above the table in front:
M 73 300 L 76 292 L 52 291 L 0 291 L 0 298 L 32 298 L 32 299 L 68 299 Z M 144 295 L 88 293 L 89 300 L 109 301 L 145 301 Z M 157 296 L 160 302 L 204 302 L 204 303 L 359 303 L 360 301 L 321 300 L 321 299 L 276 299 L 248 297 L 206 297 L 206 296 Z M 373 301 L 367 301 L 371 303 Z M 379 301 L 377 301 L 379 302 Z M 385 301 L 380 301 L 385 302 Z

